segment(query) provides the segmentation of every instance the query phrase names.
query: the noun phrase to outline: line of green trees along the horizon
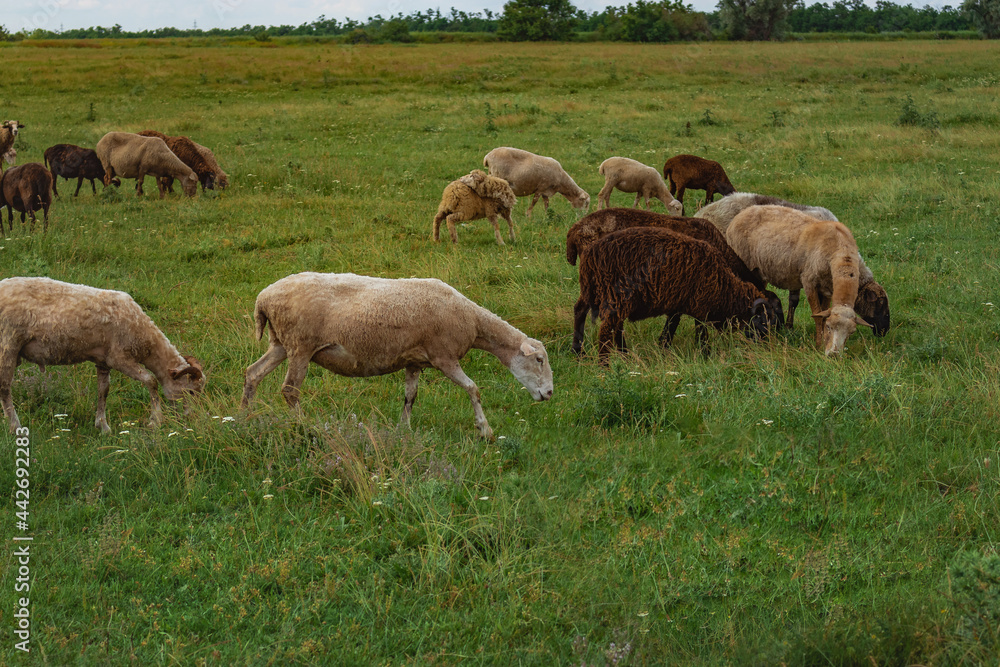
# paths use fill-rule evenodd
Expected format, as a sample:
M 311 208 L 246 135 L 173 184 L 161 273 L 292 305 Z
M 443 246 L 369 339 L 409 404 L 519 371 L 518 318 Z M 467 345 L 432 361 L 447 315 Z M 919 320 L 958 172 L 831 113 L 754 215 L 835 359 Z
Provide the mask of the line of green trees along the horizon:
M 7 32 L 0 39 L 94 39 L 163 37 L 253 37 L 266 41 L 283 36 L 343 36 L 345 41 L 407 42 L 419 33 L 495 33 L 508 41 L 594 39 L 627 42 L 674 42 L 710 39 L 771 40 L 794 33 L 950 32 L 978 30 L 1000 37 L 1000 0 L 964 0 L 940 9 L 897 5 L 878 0 L 835 0 L 806 6 L 801 0 L 719 0 L 714 12 L 698 12 L 682 0 L 635 0 L 603 11 L 586 12 L 570 0 L 509 0 L 502 13 L 488 9 L 464 12 L 452 8 L 381 14 L 365 21 L 320 16 L 301 25 L 244 25 L 238 28 L 155 28 L 128 31 L 121 25 L 31 33 Z

